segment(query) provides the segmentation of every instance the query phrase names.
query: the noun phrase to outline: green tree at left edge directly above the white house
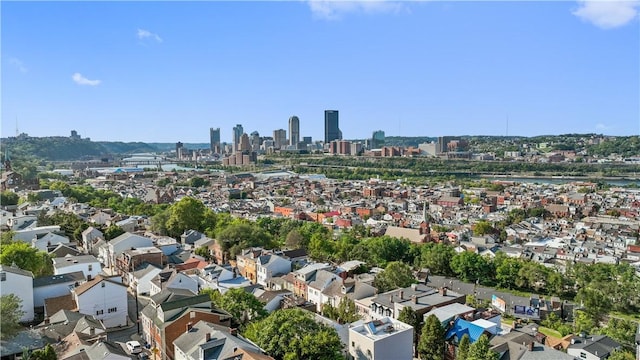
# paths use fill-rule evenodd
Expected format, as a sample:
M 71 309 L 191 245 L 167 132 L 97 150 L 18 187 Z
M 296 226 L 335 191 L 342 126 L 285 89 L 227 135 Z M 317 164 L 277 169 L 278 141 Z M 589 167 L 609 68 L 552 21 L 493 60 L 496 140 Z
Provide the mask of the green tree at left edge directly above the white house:
M 15 264 L 20 269 L 31 271 L 35 277 L 53 274 L 53 263 L 49 255 L 21 241 L 0 248 L 0 264 Z

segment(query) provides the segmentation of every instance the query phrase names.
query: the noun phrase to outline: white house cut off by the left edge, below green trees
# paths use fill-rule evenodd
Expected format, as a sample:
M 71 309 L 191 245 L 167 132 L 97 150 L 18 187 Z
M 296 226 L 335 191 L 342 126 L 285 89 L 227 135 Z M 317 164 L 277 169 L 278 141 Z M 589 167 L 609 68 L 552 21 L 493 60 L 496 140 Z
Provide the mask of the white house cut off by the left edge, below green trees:
M 31 271 L 0 265 L 0 296 L 9 294 L 14 294 L 22 300 L 24 315 L 20 321 L 33 320 L 33 274 Z

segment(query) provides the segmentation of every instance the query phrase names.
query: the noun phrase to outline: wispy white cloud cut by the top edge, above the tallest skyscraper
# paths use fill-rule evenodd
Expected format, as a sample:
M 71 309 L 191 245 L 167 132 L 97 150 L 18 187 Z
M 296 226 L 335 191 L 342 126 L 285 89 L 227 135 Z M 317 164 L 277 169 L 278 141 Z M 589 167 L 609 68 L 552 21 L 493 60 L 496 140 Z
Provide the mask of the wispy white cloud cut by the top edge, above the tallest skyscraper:
M 407 8 L 399 1 L 387 0 L 309 0 L 313 15 L 324 20 L 337 20 L 347 13 L 397 13 Z

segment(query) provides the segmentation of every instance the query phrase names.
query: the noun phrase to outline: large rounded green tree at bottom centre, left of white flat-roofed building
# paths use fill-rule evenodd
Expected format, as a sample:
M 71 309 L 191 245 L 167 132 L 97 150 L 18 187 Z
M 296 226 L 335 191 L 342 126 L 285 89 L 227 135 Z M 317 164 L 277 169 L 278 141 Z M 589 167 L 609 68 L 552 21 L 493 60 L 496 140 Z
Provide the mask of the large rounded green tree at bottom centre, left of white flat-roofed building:
M 250 323 L 244 335 L 277 360 L 342 358 L 338 333 L 301 309 L 277 310 Z

